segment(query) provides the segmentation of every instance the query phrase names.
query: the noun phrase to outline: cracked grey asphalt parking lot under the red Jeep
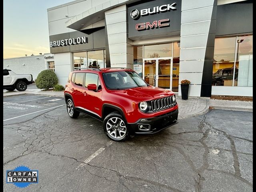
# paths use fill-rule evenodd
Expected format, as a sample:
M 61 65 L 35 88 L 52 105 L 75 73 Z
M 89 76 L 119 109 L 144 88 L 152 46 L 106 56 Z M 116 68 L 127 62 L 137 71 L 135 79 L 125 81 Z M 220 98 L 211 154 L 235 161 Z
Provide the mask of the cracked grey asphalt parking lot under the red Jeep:
M 113 142 L 101 122 L 69 118 L 64 98 L 3 101 L 4 191 L 252 191 L 252 112 L 210 110 Z M 38 184 L 6 184 L 6 170 L 21 165 L 38 170 Z

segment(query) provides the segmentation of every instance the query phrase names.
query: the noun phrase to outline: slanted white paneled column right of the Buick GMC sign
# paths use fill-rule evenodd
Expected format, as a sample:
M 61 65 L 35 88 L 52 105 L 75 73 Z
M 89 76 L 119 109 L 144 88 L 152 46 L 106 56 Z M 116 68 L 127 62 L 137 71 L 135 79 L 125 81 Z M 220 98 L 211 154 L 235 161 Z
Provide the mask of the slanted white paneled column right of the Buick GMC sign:
M 182 0 L 179 79 L 191 82 L 188 96 L 201 96 L 206 53 L 211 54 L 213 59 L 215 34 L 210 31 L 212 16 L 216 17 L 214 0 Z M 206 49 L 207 46 L 211 46 L 211 49 Z M 208 68 L 212 68 L 210 63 L 207 64 Z

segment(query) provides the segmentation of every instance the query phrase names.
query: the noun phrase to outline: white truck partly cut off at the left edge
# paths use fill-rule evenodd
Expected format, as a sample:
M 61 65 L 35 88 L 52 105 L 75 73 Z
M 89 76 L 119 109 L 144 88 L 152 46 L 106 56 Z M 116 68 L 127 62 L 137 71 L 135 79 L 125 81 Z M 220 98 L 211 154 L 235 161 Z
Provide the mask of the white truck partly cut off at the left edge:
M 16 74 L 10 69 L 4 69 L 4 89 L 24 91 L 28 84 L 34 83 L 32 74 Z

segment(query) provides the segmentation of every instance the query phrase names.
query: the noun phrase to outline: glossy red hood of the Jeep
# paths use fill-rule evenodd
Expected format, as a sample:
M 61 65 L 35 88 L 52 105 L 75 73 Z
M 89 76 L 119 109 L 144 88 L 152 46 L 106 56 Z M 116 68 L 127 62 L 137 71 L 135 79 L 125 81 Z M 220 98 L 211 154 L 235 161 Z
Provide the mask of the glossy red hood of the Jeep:
M 147 101 L 158 99 L 166 96 L 170 96 L 174 94 L 174 92 L 158 87 L 148 86 L 148 87 L 136 87 L 127 90 L 115 90 L 116 95 L 120 95 L 122 97 L 128 97 L 132 100 Z

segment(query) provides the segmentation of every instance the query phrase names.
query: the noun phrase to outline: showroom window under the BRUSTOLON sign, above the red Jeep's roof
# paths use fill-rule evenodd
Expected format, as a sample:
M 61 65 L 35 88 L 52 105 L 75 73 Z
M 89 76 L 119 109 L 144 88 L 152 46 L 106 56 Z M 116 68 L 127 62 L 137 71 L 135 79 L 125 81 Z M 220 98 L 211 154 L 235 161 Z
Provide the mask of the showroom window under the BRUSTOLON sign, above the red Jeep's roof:
M 73 53 L 73 68 L 104 68 L 106 67 L 105 50 Z

